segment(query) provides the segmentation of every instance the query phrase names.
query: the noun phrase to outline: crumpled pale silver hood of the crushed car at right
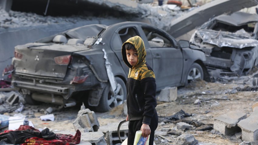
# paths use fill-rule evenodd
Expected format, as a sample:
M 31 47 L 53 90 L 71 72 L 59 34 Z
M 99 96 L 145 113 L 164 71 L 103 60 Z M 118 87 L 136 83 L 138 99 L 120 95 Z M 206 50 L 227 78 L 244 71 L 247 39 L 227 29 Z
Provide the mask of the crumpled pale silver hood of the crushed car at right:
M 202 39 L 202 42 L 216 45 L 218 47 L 245 48 L 258 46 L 258 41 L 250 39 L 252 36 L 243 29 L 231 33 L 224 31 L 199 29 L 195 31 L 195 35 Z M 193 35 L 193 36 L 195 36 Z M 194 37 L 190 42 L 195 44 Z

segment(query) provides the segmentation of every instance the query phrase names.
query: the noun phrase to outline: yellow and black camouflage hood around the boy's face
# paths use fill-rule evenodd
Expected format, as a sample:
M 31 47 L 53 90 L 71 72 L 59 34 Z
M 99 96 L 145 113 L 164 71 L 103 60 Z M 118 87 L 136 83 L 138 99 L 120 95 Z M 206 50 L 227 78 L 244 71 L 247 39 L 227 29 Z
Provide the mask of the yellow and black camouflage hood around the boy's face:
M 127 61 L 125 43 L 131 43 L 132 45 L 134 45 L 134 48 L 137 51 L 138 60 L 137 60 L 137 63 L 135 66 L 131 66 L 130 63 Z M 134 37 L 129 38 L 126 42 L 124 42 L 124 44 L 122 46 L 122 57 L 123 57 L 124 63 L 130 68 L 137 68 L 146 62 L 146 60 L 145 60 L 146 50 L 145 50 L 144 42 L 141 39 L 141 37 L 134 36 Z

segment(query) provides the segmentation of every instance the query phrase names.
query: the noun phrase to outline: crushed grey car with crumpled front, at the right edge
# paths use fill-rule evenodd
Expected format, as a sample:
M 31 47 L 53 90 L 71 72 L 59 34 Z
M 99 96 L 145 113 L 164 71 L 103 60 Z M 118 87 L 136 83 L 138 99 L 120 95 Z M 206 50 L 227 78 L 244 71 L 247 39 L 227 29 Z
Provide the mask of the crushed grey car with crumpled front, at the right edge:
M 190 42 L 206 55 L 208 70 L 220 69 L 222 75 L 240 76 L 257 65 L 258 15 L 235 12 L 205 22 Z

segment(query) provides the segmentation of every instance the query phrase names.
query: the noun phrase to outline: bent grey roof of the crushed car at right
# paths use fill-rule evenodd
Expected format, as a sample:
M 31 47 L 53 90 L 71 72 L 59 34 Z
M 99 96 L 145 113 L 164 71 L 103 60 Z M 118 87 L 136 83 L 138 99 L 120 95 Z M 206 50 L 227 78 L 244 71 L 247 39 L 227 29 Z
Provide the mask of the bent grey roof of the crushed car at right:
M 258 22 L 258 15 L 245 12 L 234 12 L 231 15 L 219 15 L 214 19 L 229 25 L 241 26 L 250 22 Z

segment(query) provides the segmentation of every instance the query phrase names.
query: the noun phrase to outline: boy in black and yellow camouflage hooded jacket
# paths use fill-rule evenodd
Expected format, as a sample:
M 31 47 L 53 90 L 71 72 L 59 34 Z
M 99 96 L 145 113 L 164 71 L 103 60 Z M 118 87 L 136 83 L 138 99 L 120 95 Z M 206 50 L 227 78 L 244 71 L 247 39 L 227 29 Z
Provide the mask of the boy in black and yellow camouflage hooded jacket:
M 127 117 L 128 145 L 134 144 L 136 131 L 148 137 L 149 145 L 153 145 L 154 131 L 158 126 L 155 75 L 146 63 L 144 42 L 139 36 L 129 38 L 122 46 L 122 56 L 130 68 L 127 80 Z

